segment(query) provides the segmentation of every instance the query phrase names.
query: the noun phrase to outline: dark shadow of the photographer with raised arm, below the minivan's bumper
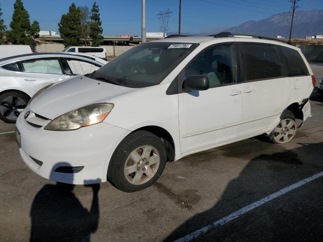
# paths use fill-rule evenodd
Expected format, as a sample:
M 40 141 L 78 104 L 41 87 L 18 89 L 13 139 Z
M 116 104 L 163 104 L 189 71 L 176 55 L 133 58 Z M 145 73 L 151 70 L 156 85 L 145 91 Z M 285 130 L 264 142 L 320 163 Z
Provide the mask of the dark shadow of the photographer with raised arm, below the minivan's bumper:
M 71 166 L 66 162 L 56 164 Z M 55 174 L 53 167 L 51 174 Z M 56 174 L 57 175 L 57 174 Z M 73 181 L 70 175 L 69 183 Z M 99 181 L 98 181 L 99 182 Z M 99 220 L 99 184 L 91 185 L 93 200 L 90 211 L 75 197 L 75 185 L 57 183 L 45 185 L 35 196 L 31 206 L 30 241 L 90 241 Z

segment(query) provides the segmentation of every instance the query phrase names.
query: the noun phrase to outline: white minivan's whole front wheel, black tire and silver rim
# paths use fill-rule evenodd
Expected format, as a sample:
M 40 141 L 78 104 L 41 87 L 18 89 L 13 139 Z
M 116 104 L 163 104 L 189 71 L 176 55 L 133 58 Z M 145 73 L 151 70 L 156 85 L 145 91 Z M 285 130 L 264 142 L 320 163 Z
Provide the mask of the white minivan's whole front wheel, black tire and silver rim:
M 121 191 L 140 191 L 158 179 L 166 160 L 163 142 L 147 131 L 138 131 L 127 136 L 115 150 L 107 179 Z

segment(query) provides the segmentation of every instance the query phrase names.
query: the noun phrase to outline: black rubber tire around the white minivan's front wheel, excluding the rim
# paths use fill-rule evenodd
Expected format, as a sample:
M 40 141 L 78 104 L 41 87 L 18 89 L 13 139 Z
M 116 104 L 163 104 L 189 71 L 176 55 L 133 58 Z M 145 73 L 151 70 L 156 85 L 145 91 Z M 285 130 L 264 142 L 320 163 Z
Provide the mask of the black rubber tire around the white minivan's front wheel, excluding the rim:
M 138 147 L 149 145 L 159 153 L 159 165 L 152 178 L 141 185 L 131 184 L 125 175 L 125 163 L 130 154 Z M 107 169 L 107 179 L 121 191 L 132 193 L 150 187 L 163 172 L 167 161 L 166 148 L 161 140 L 147 131 L 138 131 L 128 135 L 116 148 Z

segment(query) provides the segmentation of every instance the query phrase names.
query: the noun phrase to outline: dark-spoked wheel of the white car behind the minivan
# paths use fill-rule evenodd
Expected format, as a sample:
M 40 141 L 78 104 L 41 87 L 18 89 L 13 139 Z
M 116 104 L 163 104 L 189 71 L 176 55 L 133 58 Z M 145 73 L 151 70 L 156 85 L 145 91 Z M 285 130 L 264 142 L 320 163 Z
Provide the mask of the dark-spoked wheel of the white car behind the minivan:
M 11 97 L 13 97 L 12 99 L 13 104 L 9 104 Z M 16 100 L 16 104 L 19 104 L 17 107 L 16 107 L 16 104 L 14 103 L 15 102 L 14 100 Z M 19 100 L 19 103 L 17 103 L 17 100 Z M 30 100 L 30 97 L 27 94 L 22 92 L 9 91 L 9 92 L 2 93 L 0 95 L 0 119 L 2 119 L 5 123 L 15 124 L 17 117 L 20 113 L 19 110 L 23 110 L 26 107 L 29 100 Z M 24 103 L 24 105 L 21 105 L 22 103 Z

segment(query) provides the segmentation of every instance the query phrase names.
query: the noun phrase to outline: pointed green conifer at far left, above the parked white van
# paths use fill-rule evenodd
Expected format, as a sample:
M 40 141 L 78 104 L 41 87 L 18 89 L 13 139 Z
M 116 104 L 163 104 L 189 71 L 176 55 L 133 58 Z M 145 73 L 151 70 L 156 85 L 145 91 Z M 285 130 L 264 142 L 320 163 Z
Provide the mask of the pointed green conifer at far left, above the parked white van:
M 21 0 L 16 0 L 14 4 L 14 14 L 12 15 L 10 28 L 11 30 L 7 31 L 7 35 L 11 43 L 28 45 L 35 43 L 30 32 L 29 14 L 25 10 Z

